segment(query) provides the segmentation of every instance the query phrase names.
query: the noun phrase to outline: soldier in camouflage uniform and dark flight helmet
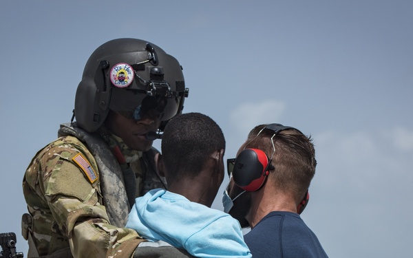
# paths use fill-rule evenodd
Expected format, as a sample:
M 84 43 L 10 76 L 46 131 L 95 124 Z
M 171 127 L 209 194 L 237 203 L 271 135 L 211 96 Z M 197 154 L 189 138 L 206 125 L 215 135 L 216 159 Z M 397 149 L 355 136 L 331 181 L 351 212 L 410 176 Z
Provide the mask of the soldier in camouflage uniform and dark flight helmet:
M 72 122 L 36 153 L 23 178 L 28 257 L 134 254 L 143 240 L 124 228 L 127 215 L 136 197 L 166 188 L 151 146 L 187 96 L 182 67 L 157 45 L 115 39 L 93 52 Z

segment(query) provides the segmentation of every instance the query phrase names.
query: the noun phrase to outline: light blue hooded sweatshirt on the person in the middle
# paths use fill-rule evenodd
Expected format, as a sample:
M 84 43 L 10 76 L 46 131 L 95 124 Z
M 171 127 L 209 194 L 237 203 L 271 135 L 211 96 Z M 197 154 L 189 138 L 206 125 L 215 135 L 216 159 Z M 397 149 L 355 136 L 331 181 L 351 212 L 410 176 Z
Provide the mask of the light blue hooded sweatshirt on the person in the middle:
M 236 219 L 164 189 L 136 198 L 126 227 L 195 257 L 251 257 Z

